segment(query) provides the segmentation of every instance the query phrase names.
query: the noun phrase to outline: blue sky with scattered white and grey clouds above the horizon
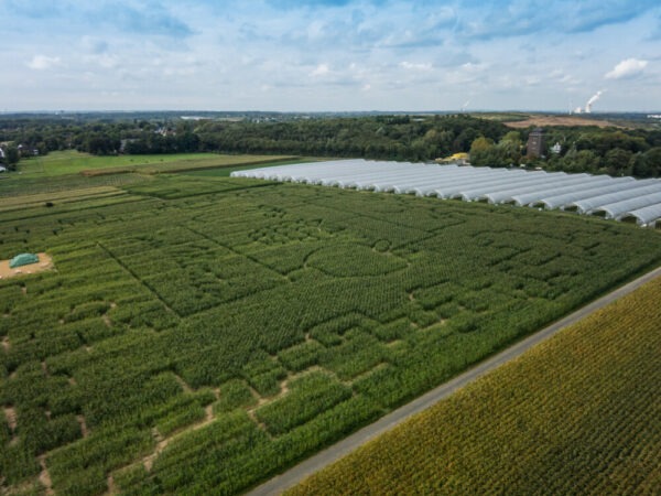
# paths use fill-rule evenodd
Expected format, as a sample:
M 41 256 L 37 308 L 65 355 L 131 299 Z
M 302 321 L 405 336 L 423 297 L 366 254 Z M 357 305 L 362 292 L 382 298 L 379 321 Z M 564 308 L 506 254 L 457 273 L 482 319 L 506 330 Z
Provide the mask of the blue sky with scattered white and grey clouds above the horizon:
M 0 0 L 0 111 L 661 110 L 659 0 Z

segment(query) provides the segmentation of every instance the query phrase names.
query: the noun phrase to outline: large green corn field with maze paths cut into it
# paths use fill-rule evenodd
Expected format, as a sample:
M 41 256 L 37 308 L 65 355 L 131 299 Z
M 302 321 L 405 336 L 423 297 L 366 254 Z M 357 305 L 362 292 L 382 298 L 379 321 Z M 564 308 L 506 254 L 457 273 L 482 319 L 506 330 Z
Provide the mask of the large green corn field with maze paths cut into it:
M 659 233 L 571 214 L 52 181 L 22 208 L 0 184 L 0 259 L 55 263 L 0 280 L 2 490 L 241 492 L 661 262 Z

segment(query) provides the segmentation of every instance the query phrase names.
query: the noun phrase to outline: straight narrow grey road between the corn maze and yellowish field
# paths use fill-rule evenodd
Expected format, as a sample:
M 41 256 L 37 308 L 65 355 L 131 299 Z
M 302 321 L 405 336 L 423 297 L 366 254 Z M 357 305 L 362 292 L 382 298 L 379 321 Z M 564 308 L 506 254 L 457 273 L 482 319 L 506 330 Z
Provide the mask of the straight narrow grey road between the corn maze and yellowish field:
M 354 450 L 360 448 L 362 444 L 371 441 L 372 439 L 381 435 L 382 433 L 393 429 L 400 423 L 404 422 L 412 416 L 426 410 L 436 402 L 445 399 L 457 389 L 473 382 L 485 374 L 500 367 L 505 363 L 521 356 L 523 353 L 538 345 L 539 343 L 548 339 L 554 334 L 559 333 L 563 328 L 575 324 L 582 319 L 586 317 L 590 313 L 613 303 L 614 301 L 629 294 L 636 289 L 640 288 L 646 282 L 649 282 L 658 277 L 661 277 L 661 267 L 641 276 L 635 281 L 616 289 L 615 291 L 602 296 L 593 303 L 577 310 L 576 312 L 565 316 L 564 319 L 555 322 L 554 324 L 541 330 L 540 332 L 528 336 L 527 338 L 516 343 L 511 347 L 491 356 L 490 358 L 481 362 L 475 367 L 466 370 L 462 375 L 454 379 L 438 386 L 437 388 L 426 392 L 420 398 L 411 401 L 410 403 L 400 407 L 399 409 L 388 413 L 378 421 L 362 428 L 354 434 L 345 438 L 332 446 L 328 446 L 324 451 L 321 451 L 316 455 L 305 460 L 299 465 L 293 466 L 289 471 L 281 475 L 278 475 L 262 485 L 256 487 L 248 493 L 249 496 L 267 496 L 278 495 L 284 490 L 293 487 L 305 477 L 321 471 L 322 468 L 330 465 L 338 461 L 343 456 L 349 454 Z

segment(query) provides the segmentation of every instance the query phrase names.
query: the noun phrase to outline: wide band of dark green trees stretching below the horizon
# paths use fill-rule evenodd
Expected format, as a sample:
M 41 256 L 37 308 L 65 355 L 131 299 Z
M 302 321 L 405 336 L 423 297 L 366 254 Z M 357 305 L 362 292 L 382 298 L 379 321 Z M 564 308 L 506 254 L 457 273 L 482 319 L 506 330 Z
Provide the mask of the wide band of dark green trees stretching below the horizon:
M 474 165 L 541 166 L 638 177 L 661 176 L 661 130 L 553 127 L 541 158 L 528 157 L 530 129 L 469 115 L 360 116 L 289 120 L 0 120 L 6 157 L 75 149 L 93 154 L 278 153 L 431 161 L 470 152 Z M 554 144 L 560 150 L 552 149 Z M 17 147 L 21 145 L 21 149 Z M 6 159 L 12 165 L 12 162 Z

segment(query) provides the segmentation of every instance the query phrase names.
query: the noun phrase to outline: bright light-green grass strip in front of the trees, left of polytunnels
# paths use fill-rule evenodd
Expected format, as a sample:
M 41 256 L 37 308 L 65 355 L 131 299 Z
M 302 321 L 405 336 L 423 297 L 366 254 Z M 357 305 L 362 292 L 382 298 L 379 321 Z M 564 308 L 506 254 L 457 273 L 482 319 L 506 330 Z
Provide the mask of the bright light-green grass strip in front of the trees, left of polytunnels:
M 122 172 L 177 172 L 207 168 L 226 168 L 243 163 L 263 164 L 292 160 L 289 157 L 273 155 L 219 155 L 216 153 L 175 153 L 160 155 L 111 155 L 97 157 L 75 150 L 51 152 L 45 157 L 22 160 L 12 179 L 31 179 L 85 173 L 117 174 Z

